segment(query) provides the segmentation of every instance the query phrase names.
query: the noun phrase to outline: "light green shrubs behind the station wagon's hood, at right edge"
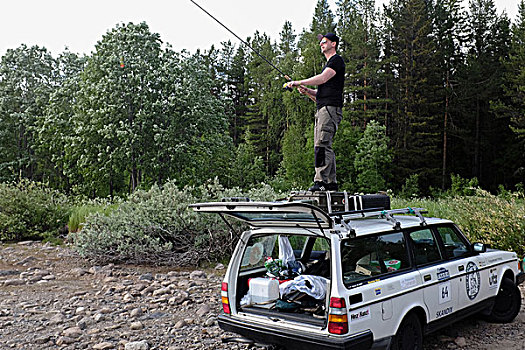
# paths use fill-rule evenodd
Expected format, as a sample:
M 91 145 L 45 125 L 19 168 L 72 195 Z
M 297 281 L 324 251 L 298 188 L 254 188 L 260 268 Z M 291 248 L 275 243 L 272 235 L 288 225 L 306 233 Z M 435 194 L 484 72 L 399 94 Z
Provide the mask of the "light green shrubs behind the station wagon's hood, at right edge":
M 428 216 L 454 221 L 471 242 L 525 254 L 525 202 L 502 198 L 477 189 L 475 195 L 431 199 L 392 199 L 393 208 L 423 207 Z

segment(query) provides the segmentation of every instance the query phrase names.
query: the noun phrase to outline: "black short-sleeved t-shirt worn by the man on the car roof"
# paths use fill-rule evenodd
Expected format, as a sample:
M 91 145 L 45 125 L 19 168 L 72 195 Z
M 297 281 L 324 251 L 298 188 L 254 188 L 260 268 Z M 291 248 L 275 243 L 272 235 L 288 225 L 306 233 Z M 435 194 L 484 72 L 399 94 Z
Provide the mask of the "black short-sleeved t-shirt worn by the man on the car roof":
M 321 109 L 324 106 L 343 107 L 345 62 L 341 56 L 335 54 L 330 57 L 326 66 L 324 66 L 323 71 L 328 67 L 335 70 L 335 75 L 332 79 L 317 87 L 317 94 L 315 95 L 317 109 Z

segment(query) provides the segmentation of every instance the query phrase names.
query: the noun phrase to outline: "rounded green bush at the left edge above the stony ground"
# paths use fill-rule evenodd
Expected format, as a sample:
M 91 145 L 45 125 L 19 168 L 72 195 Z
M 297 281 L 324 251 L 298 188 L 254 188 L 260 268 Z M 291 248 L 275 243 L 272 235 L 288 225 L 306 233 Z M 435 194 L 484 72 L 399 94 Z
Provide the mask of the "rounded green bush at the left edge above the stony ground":
M 0 183 L 0 240 L 51 239 L 66 226 L 67 197 L 42 183 Z

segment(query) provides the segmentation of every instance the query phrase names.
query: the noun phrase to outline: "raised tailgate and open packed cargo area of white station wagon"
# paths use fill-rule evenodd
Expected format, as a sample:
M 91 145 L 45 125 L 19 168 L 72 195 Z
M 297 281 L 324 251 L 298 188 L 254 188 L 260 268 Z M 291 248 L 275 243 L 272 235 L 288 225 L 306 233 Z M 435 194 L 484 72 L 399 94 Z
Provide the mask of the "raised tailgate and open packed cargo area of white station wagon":
M 238 246 L 242 251 L 235 253 L 230 266 L 237 313 L 267 317 L 269 322 L 326 325 L 333 228 L 326 212 L 298 202 L 212 202 L 191 207 L 255 228 Z

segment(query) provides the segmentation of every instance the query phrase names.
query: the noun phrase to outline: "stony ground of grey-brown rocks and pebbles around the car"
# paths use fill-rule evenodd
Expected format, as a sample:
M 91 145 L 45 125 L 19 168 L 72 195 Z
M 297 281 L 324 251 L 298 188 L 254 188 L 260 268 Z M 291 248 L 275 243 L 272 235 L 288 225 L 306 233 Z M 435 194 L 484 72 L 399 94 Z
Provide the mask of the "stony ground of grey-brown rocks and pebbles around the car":
M 63 247 L 0 245 L 0 349 L 246 349 L 221 341 L 232 335 L 216 322 L 224 271 L 94 266 Z M 448 327 L 425 349 L 525 349 L 525 306 L 510 324 Z

